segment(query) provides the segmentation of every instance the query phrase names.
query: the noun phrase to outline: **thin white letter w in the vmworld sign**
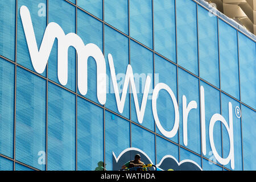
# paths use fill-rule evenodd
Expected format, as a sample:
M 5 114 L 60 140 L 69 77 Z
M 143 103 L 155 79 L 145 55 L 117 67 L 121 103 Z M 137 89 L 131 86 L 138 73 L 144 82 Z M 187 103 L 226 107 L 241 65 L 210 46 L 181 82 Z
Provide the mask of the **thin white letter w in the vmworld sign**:
M 128 84 L 130 81 L 131 89 L 133 92 L 135 109 L 136 109 L 136 113 L 137 113 L 137 118 L 138 118 L 139 123 L 142 123 L 145 109 L 146 109 L 146 104 L 147 104 L 147 96 L 148 96 L 148 92 L 150 89 L 150 82 L 151 82 L 150 76 L 147 76 L 147 78 L 146 78 L 146 83 L 145 83 L 143 97 L 142 97 L 141 109 L 139 109 L 138 96 L 137 96 L 136 86 L 135 86 L 134 76 L 133 76 L 133 68 L 131 68 L 130 64 L 127 66 L 125 82 L 123 84 L 123 92 L 122 92 L 122 96 L 121 96 L 121 100 L 120 100 L 119 90 L 118 90 L 118 86 L 117 86 L 117 77 L 115 76 L 113 57 L 110 53 L 108 55 L 108 59 L 109 59 L 110 73 L 111 73 L 114 92 L 115 92 L 115 100 L 117 101 L 117 109 L 118 109 L 119 113 L 123 113 L 123 107 L 125 106 L 125 98 L 126 98 L 126 94 L 127 94 Z

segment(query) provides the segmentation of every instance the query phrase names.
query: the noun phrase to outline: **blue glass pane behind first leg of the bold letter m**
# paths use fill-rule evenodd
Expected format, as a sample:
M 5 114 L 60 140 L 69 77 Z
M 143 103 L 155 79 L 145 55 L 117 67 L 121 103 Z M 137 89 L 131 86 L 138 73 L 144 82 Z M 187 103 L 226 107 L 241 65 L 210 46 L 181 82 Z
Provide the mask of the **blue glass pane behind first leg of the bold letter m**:
M 59 24 L 65 34 L 76 32 L 76 7 L 65 1 L 49 0 L 49 22 Z M 49 56 L 48 78 L 60 84 L 57 77 L 57 44 L 55 41 Z M 65 87 L 76 91 L 76 51 L 73 47 L 68 49 L 68 82 Z

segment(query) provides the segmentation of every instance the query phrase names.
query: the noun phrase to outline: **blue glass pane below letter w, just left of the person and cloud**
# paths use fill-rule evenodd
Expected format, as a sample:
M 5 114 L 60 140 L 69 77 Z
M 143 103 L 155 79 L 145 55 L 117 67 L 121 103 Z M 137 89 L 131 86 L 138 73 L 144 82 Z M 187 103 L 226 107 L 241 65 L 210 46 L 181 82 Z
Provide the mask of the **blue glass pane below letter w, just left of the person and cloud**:
M 113 170 L 116 157 L 130 147 L 130 122 L 105 111 L 106 169 Z M 120 168 L 123 164 L 120 164 Z

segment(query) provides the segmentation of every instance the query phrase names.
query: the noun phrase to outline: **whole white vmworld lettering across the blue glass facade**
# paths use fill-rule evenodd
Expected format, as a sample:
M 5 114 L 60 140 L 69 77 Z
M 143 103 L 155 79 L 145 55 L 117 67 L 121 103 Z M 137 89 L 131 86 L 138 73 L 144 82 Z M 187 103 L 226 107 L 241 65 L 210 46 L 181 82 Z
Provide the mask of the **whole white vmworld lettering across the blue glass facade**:
M 76 49 L 77 56 L 78 56 L 77 85 L 78 85 L 79 92 L 82 95 L 85 95 L 87 93 L 87 85 L 88 85 L 87 61 L 88 61 L 88 58 L 92 56 L 96 61 L 96 67 L 97 67 L 97 98 L 100 104 L 104 105 L 106 103 L 106 61 L 103 53 L 101 52 L 101 49 L 92 43 L 84 45 L 84 42 L 82 42 L 82 39 L 74 33 L 69 33 L 65 35 L 63 29 L 59 26 L 59 24 L 54 22 L 49 23 L 48 26 L 46 27 L 42 44 L 40 46 L 40 49 L 38 49 L 38 46 L 36 44 L 36 39 L 35 39 L 35 32 L 34 32 L 34 28 L 31 21 L 30 11 L 27 9 L 26 6 L 20 7 L 20 16 L 22 19 L 23 28 L 26 35 L 26 40 L 27 40 L 28 50 L 30 52 L 32 65 L 35 71 L 38 73 L 44 72 L 44 69 L 46 69 L 49 55 L 51 53 L 53 43 L 55 41 L 55 38 L 57 38 L 58 40 L 57 76 L 60 81 L 60 84 L 66 85 L 68 81 L 68 48 L 72 46 Z M 127 89 L 130 83 L 131 91 L 133 92 L 137 118 L 139 123 L 142 123 L 143 117 L 144 117 L 144 111 L 146 109 L 146 104 L 148 100 L 148 92 L 151 84 L 150 76 L 147 76 L 146 78 L 143 97 L 142 97 L 142 104 L 141 104 L 141 107 L 139 107 L 137 90 L 134 82 L 133 68 L 131 67 L 130 64 L 127 65 L 125 81 L 123 84 L 123 90 L 120 98 L 119 89 L 117 85 L 117 77 L 115 75 L 113 57 L 110 53 L 108 54 L 108 60 L 109 60 L 109 67 L 110 67 L 113 87 L 114 87 L 115 100 L 117 103 L 117 108 L 119 113 L 123 112 L 123 107 L 125 105 L 125 99 L 127 95 Z M 158 113 L 156 110 L 156 100 L 158 98 L 158 94 L 160 90 L 166 90 L 170 94 L 172 102 L 174 104 L 175 121 L 174 121 L 174 127 L 172 128 L 171 131 L 166 131 L 161 125 L 158 118 Z M 207 151 L 206 151 L 206 137 L 205 137 L 205 102 L 204 102 L 203 86 L 201 86 L 200 88 L 200 97 L 201 97 L 200 114 L 201 114 L 201 134 L 202 134 L 201 145 L 203 149 L 203 154 L 206 155 Z M 182 106 L 183 106 L 183 143 L 185 144 L 185 146 L 187 146 L 188 114 L 191 109 L 197 108 L 197 103 L 196 101 L 191 101 L 187 104 L 187 98 L 183 96 Z M 164 83 L 159 83 L 155 86 L 152 93 L 152 112 L 154 115 L 156 126 L 158 127 L 160 132 L 168 138 L 174 137 L 177 134 L 177 131 L 179 129 L 179 106 L 177 104 L 177 100 L 174 92 L 172 92 L 172 89 L 168 85 Z M 218 155 L 218 152 L 214 145 L 213 127 L 217 121 L 221 121 L 224 124 L 229 134 L 230 150 L 227 158 L 222 158 L 220 155 Z M 225 118 L 222 117 L 222 115 L 217 113 L 213 114 L 212 118 L 210 119 L 209 140 L 210 140 L 210 146 L 212 147 L 213 155 L 218 160 L 218 162 L 220 162 L 223 165 L 226 165 L 230 162 L 232 169 L 234 169 L 233 113 L 232 113 L 231 102 L 229 102 L 229 123 L 226 122 Z

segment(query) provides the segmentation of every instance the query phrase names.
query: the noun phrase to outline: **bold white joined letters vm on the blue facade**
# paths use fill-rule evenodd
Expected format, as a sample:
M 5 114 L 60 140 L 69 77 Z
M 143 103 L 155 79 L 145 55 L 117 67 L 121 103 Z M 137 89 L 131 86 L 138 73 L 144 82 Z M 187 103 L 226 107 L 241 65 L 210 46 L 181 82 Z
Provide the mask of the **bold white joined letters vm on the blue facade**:
M 77 51 L 77 69 L 78 69 L 78 88 L 82 95 L 87 93 L 87 61 L 90 56 L 96 60 L 97 64 L 97 97 L 100 104 L 106 102 L 106 63 L 101 49 L 95 44 L 86 44 L 82 39 L 74 34 L 65 35 L 59 24 L 51 22 L 46 27 L 42 44 L 38 51 L 36 44 L 35 32 L 31 21 L 30 11 L 26 6 L 20 7 L 20 16 L 27 40 L 28 50 L 32 65 L 36 72 L 43 73 L 46 69 L 49 55 L 52 50 L 55 38 L 58 40 L 58 60 L 57 60 L 57 75 L 61 85 L 66 85 L 68 82 L 68 48 L 74 47 Z

